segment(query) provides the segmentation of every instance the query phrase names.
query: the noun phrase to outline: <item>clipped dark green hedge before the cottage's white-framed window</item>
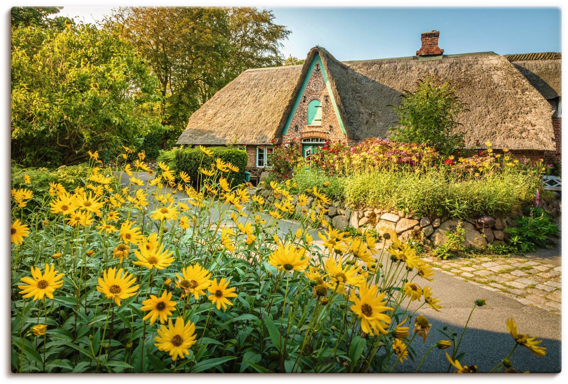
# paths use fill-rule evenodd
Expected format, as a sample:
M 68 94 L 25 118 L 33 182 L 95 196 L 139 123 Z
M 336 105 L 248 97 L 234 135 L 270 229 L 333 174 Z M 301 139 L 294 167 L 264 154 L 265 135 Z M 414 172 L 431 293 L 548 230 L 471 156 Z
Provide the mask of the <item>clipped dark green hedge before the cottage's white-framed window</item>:
M 245 170 L 247 169 L 248 155 L 242 149 L 233 149 L 227 147 L 208 147 L 213 152 L 213 157 L 205 155 L 199 148 L 178 149 L 174 155 L 174 167 L 176 173 L 185 171 L 191 177 L 193 182 L 201 180 L 203 175 L 199 173 L 200 168 L 210 169 L 214 164 L 215 158 L 223 161 L 231 162 L 231 164 L 239 167 L 240 172 L 229 172 L 227 181 L 233 185 L 242 184 L 245 181 Z

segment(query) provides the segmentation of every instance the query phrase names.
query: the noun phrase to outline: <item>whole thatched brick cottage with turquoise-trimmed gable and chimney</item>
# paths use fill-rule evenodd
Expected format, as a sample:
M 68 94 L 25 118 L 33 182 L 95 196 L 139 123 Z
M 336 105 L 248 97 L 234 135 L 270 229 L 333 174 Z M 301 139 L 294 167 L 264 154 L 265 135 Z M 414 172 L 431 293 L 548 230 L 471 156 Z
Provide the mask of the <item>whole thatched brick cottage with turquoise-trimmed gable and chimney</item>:
M 264 167 L 266 153 L 291 140 L 309 156 L 328 140 L 386 137 L 392 105 L 429 73 L 459 82 L 468 147 L 491 140 L 533 158 L 559 155 L 561 54 L 444 55 L 439 34 L 422 34 L 415 56 L 340 62 L 314 47 L 303 65 L 245 70 L 191 115 L 178 144 L 239 144 L 249 166 Z

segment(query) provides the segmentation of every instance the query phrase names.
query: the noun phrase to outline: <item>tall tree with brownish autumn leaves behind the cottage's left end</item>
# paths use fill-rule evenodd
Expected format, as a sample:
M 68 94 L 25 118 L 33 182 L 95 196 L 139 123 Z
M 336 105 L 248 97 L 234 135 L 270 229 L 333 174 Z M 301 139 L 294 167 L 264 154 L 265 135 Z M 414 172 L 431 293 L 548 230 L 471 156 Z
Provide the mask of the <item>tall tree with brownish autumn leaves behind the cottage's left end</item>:
M 160 80 L 162 148 L 243 70 L 282 65 L 280 41 L 290 34 L 271 11 L 239 7 L 127 7 L 107 24 L 137 47 Z

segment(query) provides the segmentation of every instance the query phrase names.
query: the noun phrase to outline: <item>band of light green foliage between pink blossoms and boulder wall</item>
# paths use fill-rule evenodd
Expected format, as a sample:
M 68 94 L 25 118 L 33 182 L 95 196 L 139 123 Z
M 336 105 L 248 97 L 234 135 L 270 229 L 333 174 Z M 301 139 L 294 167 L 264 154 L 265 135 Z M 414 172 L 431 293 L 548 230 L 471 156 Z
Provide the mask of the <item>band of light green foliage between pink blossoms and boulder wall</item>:
M 534 202 L 540 179 L 530 172 L 506 172 L 457 180 L 444 168 L 424 172 L 355 173 L 344 179 L 346 203 L 421 216 L 502 216 Z

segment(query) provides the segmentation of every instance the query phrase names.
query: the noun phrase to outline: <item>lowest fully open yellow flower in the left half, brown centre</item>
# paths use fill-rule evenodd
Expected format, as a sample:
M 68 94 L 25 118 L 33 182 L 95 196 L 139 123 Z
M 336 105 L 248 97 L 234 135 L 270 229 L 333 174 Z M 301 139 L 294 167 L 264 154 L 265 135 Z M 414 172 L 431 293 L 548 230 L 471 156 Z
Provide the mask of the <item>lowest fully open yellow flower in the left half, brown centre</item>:
M 189 354 L 189 348 L 197 341 L 195 335 L 195 324 L 183 322 L 182 316 L 176 319 L 176 325 L 173 325 L 172 319 L 168 320 L 168 327 L 160 325 L 158 336 L 156 336 L 157 343 L 154 343 L 159 350 L 168 352 L 172 356 L 172 361 L 176 361 L 178 356 L 185 358 Z

